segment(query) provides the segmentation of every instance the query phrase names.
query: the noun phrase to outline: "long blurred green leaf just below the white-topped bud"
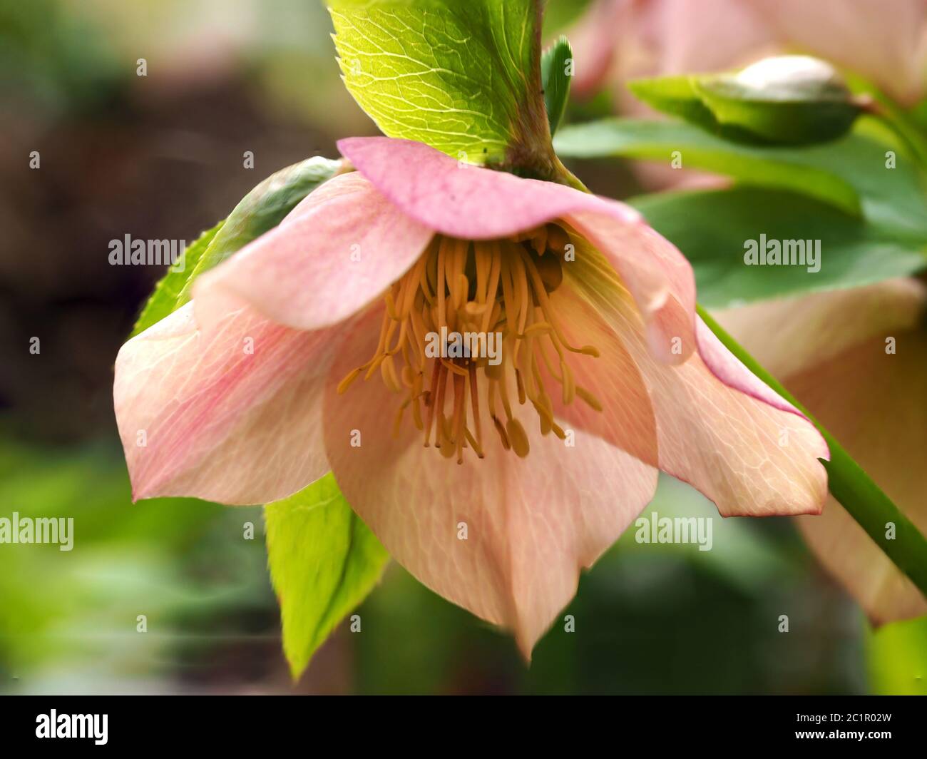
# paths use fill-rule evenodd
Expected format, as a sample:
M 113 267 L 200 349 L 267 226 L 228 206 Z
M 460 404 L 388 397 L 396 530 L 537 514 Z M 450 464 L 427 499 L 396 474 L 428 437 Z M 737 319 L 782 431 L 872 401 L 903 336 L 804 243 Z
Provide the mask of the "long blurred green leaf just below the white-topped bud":
M 561 156 L 623 156 L 726 174 L 744 184 L 790 189 L 845 212 L 862 213 L 883 234 L 907 239 L 915 249 L 927 240 L 923 179 L 904 153 L 886 168 L 885 143 L 867 135 L 878 122 L 863 119 L 854 134 L 806 148 L 731 143 L 682 122 L 603 119 L 565 126 L 554 142 Z

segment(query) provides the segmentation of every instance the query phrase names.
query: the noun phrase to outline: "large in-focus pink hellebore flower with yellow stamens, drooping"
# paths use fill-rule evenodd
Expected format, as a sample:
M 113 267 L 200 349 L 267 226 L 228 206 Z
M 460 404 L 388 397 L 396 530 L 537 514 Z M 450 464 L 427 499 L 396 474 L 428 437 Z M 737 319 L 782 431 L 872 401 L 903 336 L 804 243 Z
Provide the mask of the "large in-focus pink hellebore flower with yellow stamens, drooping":
M 122 347 L 135 498 L 264 503 L 332 470 L 396 560 L 526 655 L 657 470 L 724 516 L 819 513 L 819 432 L 705 328 L 637 212 L 406 140 L 338 148 L 356 172 Z M 445 332 L 499 333 L 501 362 L 426 354 Z

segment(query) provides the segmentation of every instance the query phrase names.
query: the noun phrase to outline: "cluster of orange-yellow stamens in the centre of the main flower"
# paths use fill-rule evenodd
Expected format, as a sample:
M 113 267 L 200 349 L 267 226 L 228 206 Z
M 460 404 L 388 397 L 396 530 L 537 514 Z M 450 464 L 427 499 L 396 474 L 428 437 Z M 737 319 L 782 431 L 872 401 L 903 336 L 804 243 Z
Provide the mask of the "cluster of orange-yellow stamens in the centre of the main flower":
M 434 440 L 442 456 L 456 454 L 459 464 L 466 447 L 484 457 L 481 394 L 505 450 L 528 454 L 525 428 L 513 413 L 515 394 L 519 405 L 534 407 L 542 434 L 563 440 L 541 366 L 561 386 L 564 405 L 578 396 L 602 410 L 566 361 L 570 353 L 599 352 L 571 345 L 552 308 L 550 293 L 563 282 L 568 242 L 553 224 L 507 239 L 436 236 L 387 290 L 375 354 L 342 379 L 337 392 L 346 392 L 362 372 L 370 379 L 379 370 L 390 391 L 406 396 L 394 435 L 411 407 L 425 446 Z

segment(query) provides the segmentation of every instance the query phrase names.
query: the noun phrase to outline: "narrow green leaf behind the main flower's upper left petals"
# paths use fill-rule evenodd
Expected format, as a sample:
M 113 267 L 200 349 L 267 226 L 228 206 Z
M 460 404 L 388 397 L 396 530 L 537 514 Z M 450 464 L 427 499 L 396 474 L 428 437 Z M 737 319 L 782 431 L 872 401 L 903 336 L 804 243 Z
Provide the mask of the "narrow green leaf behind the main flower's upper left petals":
M 341 161 L 315 157 L 271 174 L 242 199 L 224 222 L 200 235 L 184 253 L 184 270 L 173 267 L 155 287 L 133 328 L 133 336 L 188 302 L 194 281 L 251 240 L 280 224 L 300 200 L 337 174 Z

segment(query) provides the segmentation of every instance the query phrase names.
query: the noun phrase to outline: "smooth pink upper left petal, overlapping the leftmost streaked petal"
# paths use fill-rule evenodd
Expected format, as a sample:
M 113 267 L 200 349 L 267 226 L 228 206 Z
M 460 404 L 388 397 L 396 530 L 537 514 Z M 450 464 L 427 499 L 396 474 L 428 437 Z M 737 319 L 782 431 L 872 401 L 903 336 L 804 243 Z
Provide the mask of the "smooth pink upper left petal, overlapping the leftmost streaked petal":
M 375 300 L 431 238 L 361 174 L 340 174 L 199 277 L 197 320 L 209 326 L 248 304 L 287 327 L 328 327 Z

